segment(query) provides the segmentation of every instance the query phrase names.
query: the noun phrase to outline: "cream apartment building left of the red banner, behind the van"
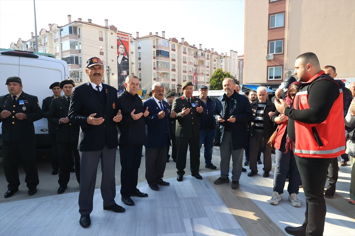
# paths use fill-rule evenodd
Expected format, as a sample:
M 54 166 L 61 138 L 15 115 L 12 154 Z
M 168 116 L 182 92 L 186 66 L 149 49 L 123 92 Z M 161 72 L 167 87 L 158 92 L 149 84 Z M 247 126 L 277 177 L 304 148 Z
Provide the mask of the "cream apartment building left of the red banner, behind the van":
M 99 25 L 92 23 L 91 19 L 82 21 L 78 18 L 59 26 L 49 24 L 48 29 L 41 29 L 37 37 L 38 52 L 54 54 L 56 58 L 67 62 L 70 78 L 78 85 L 87 82 L 89 77 L 85 73 L 86 61 L 89 57 L 99 57 L 104 63 L 103 82 L 117 87 L 117 40 L 118 29 L 114 25 Z M 123 32 L 122 32 L 123 33 Z M 128 34 L 128 33 L 126 33 Z M 130 34 L 128 34 L 130 35 Z M 31 39 L 11 43 L 11 49 L 35 51 L 35 36 Z

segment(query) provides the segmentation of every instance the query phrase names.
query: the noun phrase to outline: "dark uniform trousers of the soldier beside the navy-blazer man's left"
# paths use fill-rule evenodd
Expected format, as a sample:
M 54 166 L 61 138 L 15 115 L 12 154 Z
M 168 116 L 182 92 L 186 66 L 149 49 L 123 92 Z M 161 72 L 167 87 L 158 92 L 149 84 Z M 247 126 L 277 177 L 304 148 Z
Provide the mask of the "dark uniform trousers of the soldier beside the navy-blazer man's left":
M 69 183 L 72 156 L 75 160 L 76 180 L 80 184 L 80 155 L 78 151 L 78 142 L 57 142 L 57 146 L 59 154 L 59 186 L 66 187 Z

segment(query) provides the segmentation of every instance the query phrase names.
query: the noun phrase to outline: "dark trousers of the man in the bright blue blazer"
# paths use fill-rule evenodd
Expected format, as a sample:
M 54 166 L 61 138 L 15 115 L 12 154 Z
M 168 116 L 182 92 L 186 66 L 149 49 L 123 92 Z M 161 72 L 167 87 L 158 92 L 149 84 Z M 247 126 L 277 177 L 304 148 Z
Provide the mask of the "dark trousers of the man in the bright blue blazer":
M 149 185 L 163 181 L 168 146 L 160 148 L 146 148 L 146 179 Z

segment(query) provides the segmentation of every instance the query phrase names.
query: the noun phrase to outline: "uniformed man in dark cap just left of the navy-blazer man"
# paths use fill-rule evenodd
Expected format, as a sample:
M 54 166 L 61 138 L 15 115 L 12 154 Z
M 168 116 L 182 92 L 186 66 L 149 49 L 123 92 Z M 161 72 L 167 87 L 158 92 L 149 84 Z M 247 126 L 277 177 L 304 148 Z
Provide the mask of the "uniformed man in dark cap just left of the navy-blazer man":
M 58 194 L 62 194 L 67 188 L 70 179 L 71 155 L 75 161 L 76 180 L 80 184 L 80 156 L 78 151 L 78 138 L 80 127 L 69 122 L 68 113 L 72 89 L 75 87 L 74 81 L 63 80 L 59 87 L 63 90 L 64 96 L 53 99 L 49 108 L 48 122 L 55 125 L 56 145 L 59 154 L 59 189 Z

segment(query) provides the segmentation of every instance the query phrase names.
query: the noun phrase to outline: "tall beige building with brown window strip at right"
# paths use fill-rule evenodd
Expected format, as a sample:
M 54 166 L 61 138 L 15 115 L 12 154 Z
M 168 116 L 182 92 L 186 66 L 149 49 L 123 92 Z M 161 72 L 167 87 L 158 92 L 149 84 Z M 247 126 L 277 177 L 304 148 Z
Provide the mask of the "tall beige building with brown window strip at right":
M 305 52 L 321 67 L 333 65 L 337 78 L 355 81 L 354 10 L 348 0 L 245 1 L 243 83 L 275 90 Z

